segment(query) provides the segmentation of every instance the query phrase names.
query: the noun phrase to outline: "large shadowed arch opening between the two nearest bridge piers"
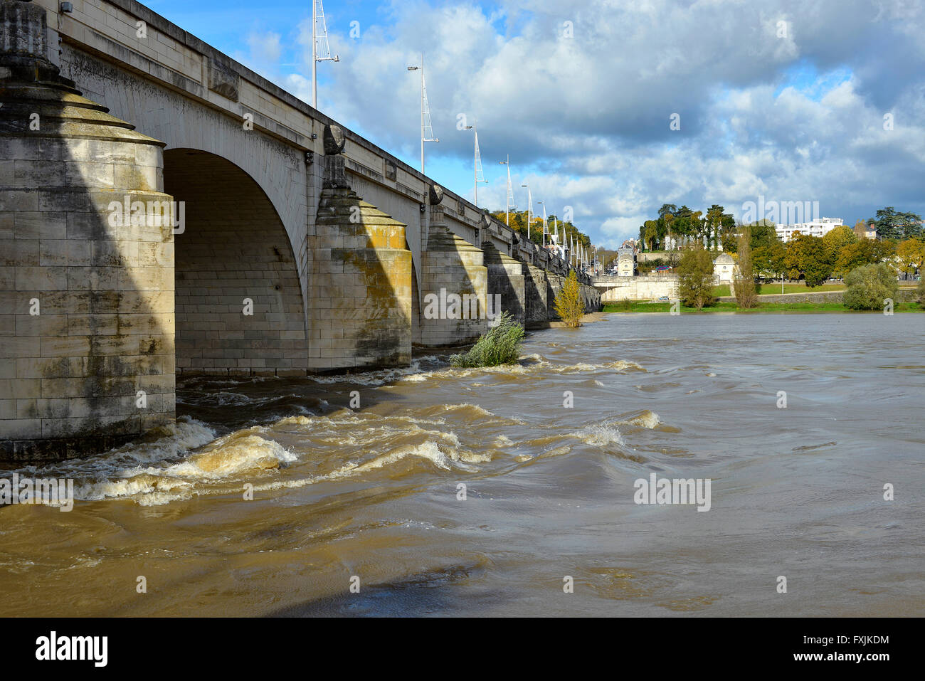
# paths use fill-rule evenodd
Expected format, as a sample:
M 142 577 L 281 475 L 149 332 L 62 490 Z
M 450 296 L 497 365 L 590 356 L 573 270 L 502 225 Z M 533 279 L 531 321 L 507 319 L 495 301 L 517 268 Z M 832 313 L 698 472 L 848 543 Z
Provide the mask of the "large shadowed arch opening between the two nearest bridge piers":
M 304 301 L 290 237 L 242 168 L 198 149 L 164 151 L 174 235 L 177 370 L 304 374 Z M 182 206 L 182 208 L 180 208 Z

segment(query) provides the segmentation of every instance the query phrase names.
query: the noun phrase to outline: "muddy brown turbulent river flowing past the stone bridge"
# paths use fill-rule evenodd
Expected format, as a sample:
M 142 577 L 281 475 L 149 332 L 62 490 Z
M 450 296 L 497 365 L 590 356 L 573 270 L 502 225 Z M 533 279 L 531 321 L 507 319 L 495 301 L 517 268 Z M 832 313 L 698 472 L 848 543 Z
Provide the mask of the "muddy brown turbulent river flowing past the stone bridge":
M 175 429 L 17 471 L 78 501 L 0 508 L 0 614 L 920 615 L 923 322 L 611 315 L 514 367 L 186 379 Z M 635 503 L 652 473 L 709 512 Z

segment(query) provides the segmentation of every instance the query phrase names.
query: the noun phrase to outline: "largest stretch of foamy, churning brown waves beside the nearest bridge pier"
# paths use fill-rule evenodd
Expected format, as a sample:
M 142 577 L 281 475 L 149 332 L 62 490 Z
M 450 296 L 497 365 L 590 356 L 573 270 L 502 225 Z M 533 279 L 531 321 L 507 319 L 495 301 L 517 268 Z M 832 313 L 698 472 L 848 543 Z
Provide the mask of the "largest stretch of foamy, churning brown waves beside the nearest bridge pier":
M 490 462 L 495 449 L 470 451 L 447 421 L 462 419 L 468 424 L 480 417 L 494 415 L 468 402 L 435 405 L 416 416 L 342 408 L 326 416 L 287 416 L 218 439 L 209 427 L 183 417 L 175 427 L 164 428 L 165 437 L 158 440 L 66 465 L 76 474 L 69 477 L 77 482 L 77 499 L 128 500 L 144 506 L 237 493 L 244 480 L 254 489 L 297 488 L 386 468 L 409 457 L 425 459 L 441 470 L 469 471 L 477 470 L 475 464 Z M 301 449 L 314 452 L 314 464 L 322 470 L 315 468 L 313 476 L 305 477 L 295 468 L 291 477 L 278 477 L 278 469 L 298 463 L 300 457 L 275 436 L 284 442 L 292 437 L 303 441 Z M 359 452 L 359 458 L 345 461 L 351 452 Z

